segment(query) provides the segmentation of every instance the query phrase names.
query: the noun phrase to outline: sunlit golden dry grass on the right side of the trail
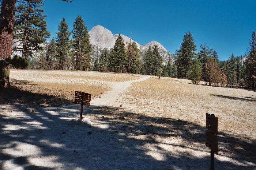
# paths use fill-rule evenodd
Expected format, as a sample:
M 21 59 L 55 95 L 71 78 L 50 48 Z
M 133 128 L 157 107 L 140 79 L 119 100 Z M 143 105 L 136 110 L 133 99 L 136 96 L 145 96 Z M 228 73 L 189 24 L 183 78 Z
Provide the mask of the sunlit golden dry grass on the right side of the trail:
M 256 92 L 191 84 L 189 80 L 135 82 L 124 99 L 137 112 L 205 126 L 206 113 L 218 117 L 219 131 L 256 139 Z

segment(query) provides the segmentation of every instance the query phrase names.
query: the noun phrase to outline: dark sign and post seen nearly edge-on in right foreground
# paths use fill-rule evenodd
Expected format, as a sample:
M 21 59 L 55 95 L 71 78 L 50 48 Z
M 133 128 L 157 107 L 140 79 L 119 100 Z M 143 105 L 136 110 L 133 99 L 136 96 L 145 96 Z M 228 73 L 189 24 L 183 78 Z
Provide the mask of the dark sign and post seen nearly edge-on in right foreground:
M 214 153 L 218 154 L 218 118 L 214 114 L 206 113 L 206 129 L 205 145 L 211 149 L 211 170 L 214 170 Z

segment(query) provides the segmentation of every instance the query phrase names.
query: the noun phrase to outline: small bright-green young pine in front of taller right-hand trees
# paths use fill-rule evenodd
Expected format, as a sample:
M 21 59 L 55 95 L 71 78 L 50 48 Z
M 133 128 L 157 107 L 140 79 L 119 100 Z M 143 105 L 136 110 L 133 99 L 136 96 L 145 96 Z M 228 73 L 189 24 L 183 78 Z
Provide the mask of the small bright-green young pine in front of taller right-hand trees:
M 199 83 L 201 79 L 201 72 L 202 72 L 202 67 L 201 67 L 201 62 L 199 59 L 194 59 L 193 64 L 190 68 L 190 75 L 189 79 L 192 81 L 192 83 Z

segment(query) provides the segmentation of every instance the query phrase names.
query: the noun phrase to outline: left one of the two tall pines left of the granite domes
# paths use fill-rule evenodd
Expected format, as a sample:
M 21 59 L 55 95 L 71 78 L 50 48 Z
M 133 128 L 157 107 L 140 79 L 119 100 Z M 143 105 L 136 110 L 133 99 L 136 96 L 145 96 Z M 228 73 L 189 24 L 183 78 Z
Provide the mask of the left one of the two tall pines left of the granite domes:
M 65 69 L 65 62 L 68 57 L 69 49 L 71 46 L 71 43 L 69 41 L 69 36 L 71 32 L 68 31 L 68 24 L 65 21 L 65 18 L 63 18 L 60 21 L 59 24 L 59 32 L 56 32 L 57 38 L 57 57 L 59 60 L 59 70 L 64 70 Z

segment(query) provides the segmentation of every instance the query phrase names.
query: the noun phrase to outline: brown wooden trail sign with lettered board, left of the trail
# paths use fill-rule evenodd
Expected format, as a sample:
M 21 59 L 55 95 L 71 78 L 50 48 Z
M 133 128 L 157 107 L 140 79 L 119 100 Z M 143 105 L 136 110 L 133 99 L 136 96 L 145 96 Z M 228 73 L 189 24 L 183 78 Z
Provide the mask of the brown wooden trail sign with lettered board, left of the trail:
M 91 104 L 91 94 L 76 91 L 75 92 L 75 102 L 76 104 L 81 104 L 81 110 L 80 110 L 80 120 L 82 120 L 83 116 L 83 105 L 90 106 Z

